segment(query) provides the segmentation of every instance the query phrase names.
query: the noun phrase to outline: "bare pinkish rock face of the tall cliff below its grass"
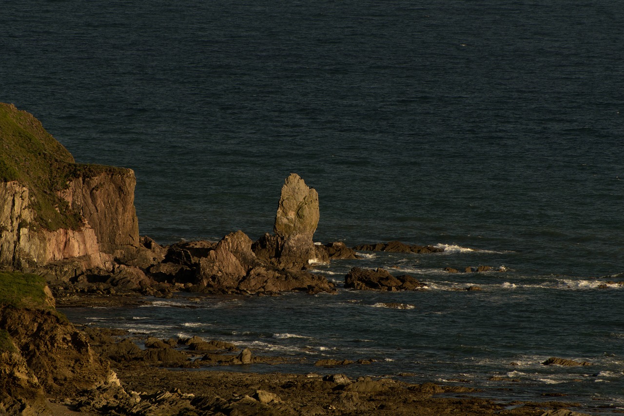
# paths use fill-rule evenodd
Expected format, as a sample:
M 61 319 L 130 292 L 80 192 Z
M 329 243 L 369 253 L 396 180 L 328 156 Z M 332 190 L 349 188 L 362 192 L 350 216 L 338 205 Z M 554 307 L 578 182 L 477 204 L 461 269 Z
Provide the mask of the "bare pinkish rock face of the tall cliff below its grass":
M 29 190 L 16 181 L 0 182 L 0 264 L 21 269 L 74 257 L 125 257 L 139 247 L 139 221 L 134 209 L 134 172 L 78 177 L 59 192 L 82 214 L 78 229 L 45 230 L 34 226 L 36 213 Z M 102 256 L 100 256 L 102 255 Z

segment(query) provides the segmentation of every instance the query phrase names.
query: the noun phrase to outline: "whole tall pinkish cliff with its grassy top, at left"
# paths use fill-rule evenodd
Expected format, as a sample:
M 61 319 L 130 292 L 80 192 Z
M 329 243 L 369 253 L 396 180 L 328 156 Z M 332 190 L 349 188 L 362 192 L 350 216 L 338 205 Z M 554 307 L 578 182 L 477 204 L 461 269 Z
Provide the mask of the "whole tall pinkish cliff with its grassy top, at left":
M 101 267 L 139 247 L 131 169 L 77 164 L 41 122 L 0 103 L 0 268 L 79 257 Z

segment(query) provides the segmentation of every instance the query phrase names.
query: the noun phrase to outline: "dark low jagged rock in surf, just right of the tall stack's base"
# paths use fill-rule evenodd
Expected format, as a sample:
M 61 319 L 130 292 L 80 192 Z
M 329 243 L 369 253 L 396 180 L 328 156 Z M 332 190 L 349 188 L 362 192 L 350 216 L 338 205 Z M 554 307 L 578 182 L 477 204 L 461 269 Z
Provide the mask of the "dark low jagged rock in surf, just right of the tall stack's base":
M 358 290 L 416 290 L 426 287 L 411 275 L 393 276 L 388 270 L 353 267 L 344 277 L 344 287 Z

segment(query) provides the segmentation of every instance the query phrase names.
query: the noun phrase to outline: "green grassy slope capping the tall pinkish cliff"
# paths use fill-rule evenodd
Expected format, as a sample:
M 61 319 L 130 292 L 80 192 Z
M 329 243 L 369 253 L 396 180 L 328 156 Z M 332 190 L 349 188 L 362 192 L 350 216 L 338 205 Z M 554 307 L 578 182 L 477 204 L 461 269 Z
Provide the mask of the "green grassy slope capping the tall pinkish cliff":
M 125 172 L 119 167 L 76 164 L 71 153 L 32 114 L 0 103 L 0 182 L 18 181 L 29 188 L 41 227 L 76 229 L 81 224 L 80 215 L 57 196 L 71 179 Z

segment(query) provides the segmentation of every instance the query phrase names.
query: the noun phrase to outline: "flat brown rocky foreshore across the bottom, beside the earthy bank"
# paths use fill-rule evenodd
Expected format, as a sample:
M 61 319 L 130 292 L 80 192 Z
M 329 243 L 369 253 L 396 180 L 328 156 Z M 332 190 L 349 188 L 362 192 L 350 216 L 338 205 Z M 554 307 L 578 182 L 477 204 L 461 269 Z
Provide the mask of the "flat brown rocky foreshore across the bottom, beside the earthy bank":
M 253 372 L 255 365 L 288 359 L 256 357 L 249 349 L 199 337 L 137 339 L 122 330 L 81 330 L 94 352 L 110 361 L 117 379 L 54 400 L 80 414 L 582 415 L 569 410 L 580 404 L 569 402 L 483 399 L 478 386 L 409 384 L 400 376 L 351 379 L 340 372 L 344 365 L 354 364 L 348 360 L 317 362 L 318 370 L 308 374 L 258 374 Z M 233 370 L 220 370 L 224 365 Z

